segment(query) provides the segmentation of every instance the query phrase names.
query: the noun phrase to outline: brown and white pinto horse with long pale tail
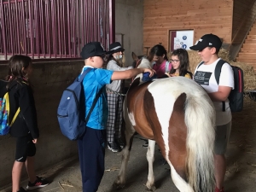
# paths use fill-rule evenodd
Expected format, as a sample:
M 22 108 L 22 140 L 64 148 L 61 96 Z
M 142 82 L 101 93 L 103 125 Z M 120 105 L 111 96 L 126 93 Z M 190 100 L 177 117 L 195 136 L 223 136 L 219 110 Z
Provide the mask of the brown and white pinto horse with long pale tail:
M 138 67 L 151 68 L 147 58 Z M 215 110 L 207 92 L 194 80 L 172 77 L 142 82 L 133 80 L 123 105 L 125 148 L 113 188 L 125 187 L 125 173 L 134 133 L 148 139 L 148 190 L 154 186 L 154 145 L 171 168 L 172 181 L 179 191 L 212 192 L 215 187 L 213 143 Z

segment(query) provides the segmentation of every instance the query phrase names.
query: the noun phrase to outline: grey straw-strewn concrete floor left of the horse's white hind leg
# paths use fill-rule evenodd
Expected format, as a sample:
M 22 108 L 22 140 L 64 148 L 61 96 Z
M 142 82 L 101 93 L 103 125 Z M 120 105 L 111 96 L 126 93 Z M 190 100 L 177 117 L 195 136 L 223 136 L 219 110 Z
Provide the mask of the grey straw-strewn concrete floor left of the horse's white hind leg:
M 135 136 L 131 156 L 128 164 L 127 182 L 125 189 L 119 189 L 120 192 L 145 191 L 144 183 L 147 182 L 148 161 L 146 160 L 147 148 L 143 148 L 144 140 L 140 136 Z M 106 149 L 106 167 L 105 174 L 98 192 L 113 191 L 112 183 L 118 175 L 121 161 L 121 153 L 113 153 Z M 178 192 L 171 180 L 171 174 L 168 165 L 163 165 L 163 159 L 155 148 L 154 172 L 157 191 Z M 40 176 L 49 178 L 49 186 L 42 189 L 33 190 L 35 192 L 63 192 L 63 191 L 82 191 L 81 175 L 79 170 L 78 157 L 65 160 L 59 165 L 49 167 L 49 170 L 40 172 Z M 26 188 L 26 181 L 21 183 Z M 10 192 L 7 186 L 1 192 Z

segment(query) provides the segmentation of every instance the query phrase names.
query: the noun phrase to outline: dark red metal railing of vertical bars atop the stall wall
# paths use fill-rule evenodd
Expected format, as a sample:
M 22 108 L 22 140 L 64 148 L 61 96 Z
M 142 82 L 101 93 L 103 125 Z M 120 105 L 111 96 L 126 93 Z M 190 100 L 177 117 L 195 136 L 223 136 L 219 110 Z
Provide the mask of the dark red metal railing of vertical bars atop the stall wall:
M 77 58 L 90 41 L 107 48 L 110 6 L 111 0 L 0 0 L 0 60 Z

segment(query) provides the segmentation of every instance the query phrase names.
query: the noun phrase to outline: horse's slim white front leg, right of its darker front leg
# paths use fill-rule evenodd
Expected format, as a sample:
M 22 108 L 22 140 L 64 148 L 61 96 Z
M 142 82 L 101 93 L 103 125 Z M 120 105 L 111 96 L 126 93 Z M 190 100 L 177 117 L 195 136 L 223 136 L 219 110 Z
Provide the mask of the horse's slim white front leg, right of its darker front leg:
M 154 171 L 153 171 L 154 147 L 155 147 L 155 141 L 148 139 L 148 152 L 147 152 L 147 160 L 148 160 L 148 182 L 146 183 L 146 187 L 147 187 L 148 190 L 151 190 L 151 191 L 155 191 L 155 186 L 154 186 Z

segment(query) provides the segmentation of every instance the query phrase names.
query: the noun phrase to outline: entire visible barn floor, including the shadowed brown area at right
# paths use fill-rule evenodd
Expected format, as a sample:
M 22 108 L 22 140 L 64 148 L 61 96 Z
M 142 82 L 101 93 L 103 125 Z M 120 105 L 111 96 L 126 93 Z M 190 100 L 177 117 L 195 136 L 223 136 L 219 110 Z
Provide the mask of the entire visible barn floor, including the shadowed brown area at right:
M 248 99 L 244 102 L 241 113 L 233 114 L 233 125 L 228 145 L 227 172 L 224 182 L 225 192 L 255 192 L 256 191 L 256 102 Z M 135 136 L 128 164 L 125 189 L 120 192 L 145 191 L 147 182 L 148 162 L 147 148 L 143 148 L 144 141 Z M 113 153 L 106 149 L 106 172 L 98 192 L 111 192 L 112 183 L 118 175 L 121 153 Z M 155 148 L 154 174 L 157 192 L 178 192 L 170 176 L 168 165 L 162 165 L 161 154 Z M 2 172 L 0 174 L 3 174 Z M 58 165 L 40 172 L 40 176 L 48 177 L 49 186 L 34 190 L 35 192 L 76 192 L 81 190 L 81 176 L 78 157 L 65 160 Z M 26 182 L 22 183 L 26 187 Z M 0 192 L 10 192 L 7 186 Z

